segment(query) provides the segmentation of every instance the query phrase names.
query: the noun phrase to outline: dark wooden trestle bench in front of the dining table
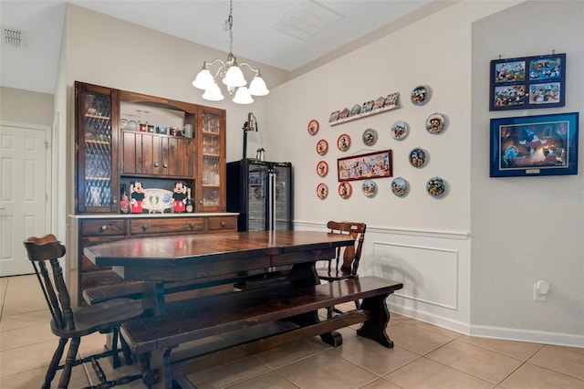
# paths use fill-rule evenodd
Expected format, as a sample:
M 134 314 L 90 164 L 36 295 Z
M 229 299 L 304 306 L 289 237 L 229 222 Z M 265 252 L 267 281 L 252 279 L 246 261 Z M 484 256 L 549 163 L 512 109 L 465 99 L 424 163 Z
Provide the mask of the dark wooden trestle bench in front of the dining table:
M 187 374 L 256 352 L 317 335 L 339 346 L 342 338 L 335 330 L 360 322 L 360 336 L 391 348 L 393 342 L 385 331 L 390 320 L 385 299 L 401 288 L 401 282 L 374 277 L 316 286 L 273 282 L 254 289 L 176 301 L 168 305 L 163 316 L 127 322 L 120 331 L 139 358 L 146 386 L 193 387 Z M 318 319 L 318 309 L 361 299 L 360 309 L 326 321 Z M 230 331 L 241 335 L 239 342 L 213 350 L 183 347 L 184 343 Z

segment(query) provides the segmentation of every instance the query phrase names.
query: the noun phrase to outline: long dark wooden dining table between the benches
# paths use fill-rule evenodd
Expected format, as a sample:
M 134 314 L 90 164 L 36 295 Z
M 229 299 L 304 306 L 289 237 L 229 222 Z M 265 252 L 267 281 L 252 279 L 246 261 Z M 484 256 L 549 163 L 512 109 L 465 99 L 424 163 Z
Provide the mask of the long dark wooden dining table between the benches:
M 144 281 L 144 309 L 162 315 L 164 283 L 221 284 L 289 268 L 289 281 L 317 285 L 315 261 L 334 258 L 337 247 L 353 243 L 348 235 L 320 231 L 252 231 L 132 238 L 86 247 L 84 254 L 123 279 Z

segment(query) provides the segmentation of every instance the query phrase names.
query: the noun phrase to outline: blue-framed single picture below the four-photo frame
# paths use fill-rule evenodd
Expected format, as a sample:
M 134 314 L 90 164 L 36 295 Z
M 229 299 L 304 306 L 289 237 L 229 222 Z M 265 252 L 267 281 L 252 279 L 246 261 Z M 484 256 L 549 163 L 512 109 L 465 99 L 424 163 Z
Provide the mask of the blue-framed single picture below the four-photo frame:
M 579 112 L 491 119 L 490 176 L 578 174 Z

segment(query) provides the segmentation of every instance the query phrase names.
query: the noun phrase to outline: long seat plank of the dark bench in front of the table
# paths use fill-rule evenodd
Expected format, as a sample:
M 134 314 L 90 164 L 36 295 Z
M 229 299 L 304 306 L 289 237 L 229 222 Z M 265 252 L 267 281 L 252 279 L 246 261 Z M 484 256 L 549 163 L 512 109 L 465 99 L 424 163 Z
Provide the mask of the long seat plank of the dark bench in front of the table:
M 287 282 L 169 304 L 165 315 L 123 325 L 137 353 L 170 347 L 259 322 L 277 321 L 352 300 L 388 295 L 400 282 L 373 277 L 297 288 Z

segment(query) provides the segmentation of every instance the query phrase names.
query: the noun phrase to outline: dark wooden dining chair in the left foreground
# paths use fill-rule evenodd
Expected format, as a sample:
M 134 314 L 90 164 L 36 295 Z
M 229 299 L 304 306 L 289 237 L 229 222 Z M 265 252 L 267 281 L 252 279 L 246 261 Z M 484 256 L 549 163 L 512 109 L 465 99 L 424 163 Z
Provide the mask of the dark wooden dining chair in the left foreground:
M 59 338 L 57 350 L 55 350 L 47 369 L 43 389 L 50 388 L 57 370 L 61 369 L 63 373 L 58 387 L 67 388 L 73 366 L 89 362 L 100 382 L 98 385 L 89 386 L 90 389 L 110 388 L 118 384 L 128 384 L 141 378 L 141 375 L 128 375 L 114 381 L 107 380 L 98 360 L 113 355 L 117 356 L 120 352 L 117 342 L 109 351 L 89 355 L 86 358 L 78 358 L 78 347 L 83 336 L 97 331 L 119 333 L 122 322 L 141 316 L 143 312 L 141 301 L 116 299 L 89 307 L 71 307 L 68 289 L 65 279 L 63 279 L 63 269 L 58 262 L 58 258 L 65 255 L 65 246 L 52 234 L 44 237 L 29 237 L 24 241 L 24 245 L 51 312 L 51 331 Z M 49 268 L 52 271 L 52 279 Z M 65 363 L 59 364 L 69 341 Z M 127 348 L 127 344 L 124 346 L 123 343 L 122 348 Z

